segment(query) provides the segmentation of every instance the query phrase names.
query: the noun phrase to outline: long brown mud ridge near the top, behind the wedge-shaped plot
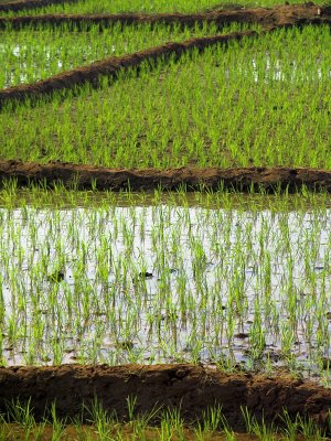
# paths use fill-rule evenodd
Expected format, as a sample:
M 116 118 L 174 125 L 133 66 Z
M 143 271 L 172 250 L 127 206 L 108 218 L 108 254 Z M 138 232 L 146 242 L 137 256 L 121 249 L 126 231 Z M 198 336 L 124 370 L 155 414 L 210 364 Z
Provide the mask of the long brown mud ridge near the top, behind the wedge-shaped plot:
M 50 0 L 51 1 L 51 0 Z M 0 4 L 1 8 L 1 4 Z M 1 9 L 0 9 L 1 10 Z M 159 13 L 159 14 L 139 14 L 139 13 L 118 13 L 118 14 L 46 14 L 46 15 L 26 15 L 14 18 L 0 18 L 0 28 L 11 25 L 12 28 L 39 26 L 43 24 L 61 25 L 63 23 L 72 24 L 75 29 L 79 25 L 86 30 L 86 25 L 99 24 L 100 28 L 111 25 L 113 23 L 140 24 L 140 23 L 164 23 L 182 24 L 194 26 L 196 23 L 214 22 L 222 28 L 233 22 L 236 23 L 259 23 L 263 26 L 275 26 L 284 24 L 296 24 L 297 22 L 316 23 L 330 22 L 330 8 L 318 7 L 313 3 L 277 6 L 271 9 L 229 9 L 215 10 L 211 12 L 201 12 L 194 14 L 183 13 Z

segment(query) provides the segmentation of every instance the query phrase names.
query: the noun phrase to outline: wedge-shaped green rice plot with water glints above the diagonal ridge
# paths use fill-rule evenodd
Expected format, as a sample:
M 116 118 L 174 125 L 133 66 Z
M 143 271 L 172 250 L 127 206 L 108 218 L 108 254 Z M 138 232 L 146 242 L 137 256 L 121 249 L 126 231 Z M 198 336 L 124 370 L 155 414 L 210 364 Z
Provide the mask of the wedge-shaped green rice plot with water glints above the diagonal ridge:
M 256 26 L 255 26 L 256 28 Z M 241 25 L 224 28 L 222 33 L 239 30 Z M 88 31 L 73 25 L 41 26 L 39 30 L 0 31 L 0 88 L 21 83 L 33 83 L 63 71 L 88 65 L 109 56 L 124 55 L 157 46 L 167 41 L 183 41 L 193 36 L 216 34 L 213 24 L 203 28 L 180 29 L 149 24 L 114 26 L 98 25 Z

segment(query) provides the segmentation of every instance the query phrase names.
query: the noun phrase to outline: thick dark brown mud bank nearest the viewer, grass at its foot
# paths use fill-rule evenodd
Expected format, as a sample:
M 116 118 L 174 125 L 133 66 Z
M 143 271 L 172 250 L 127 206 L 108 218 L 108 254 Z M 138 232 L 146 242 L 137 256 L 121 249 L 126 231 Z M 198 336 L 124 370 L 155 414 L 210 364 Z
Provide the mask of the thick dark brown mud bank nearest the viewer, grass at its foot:
M 161 405 L 180 408 L 188 422 L 199 419 L 206 407 L 221 405 L 228 424 L 237 431 L 245 429 L 241 406 L 258 421 L 264 416 L 266 423 L 279 423 L 279 415 L 287 408 L 290 417 L 310 417 L 330 431 L 331 390 L 287 376 L 226 374 L 190 364 L 0 368 L 0 411 L 17 398 L 21 402 L 31 398 L 36 419 L 54 401 L 58 417 L 75 417 L 83 402 L 90 406 L 97 397 L 106 410 L 115 410 L 125 421 L 129 396 L 137 397 L 137 412 L 151 412 Z

